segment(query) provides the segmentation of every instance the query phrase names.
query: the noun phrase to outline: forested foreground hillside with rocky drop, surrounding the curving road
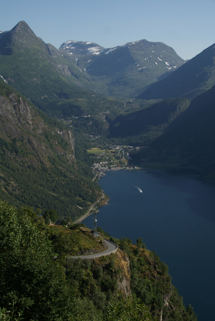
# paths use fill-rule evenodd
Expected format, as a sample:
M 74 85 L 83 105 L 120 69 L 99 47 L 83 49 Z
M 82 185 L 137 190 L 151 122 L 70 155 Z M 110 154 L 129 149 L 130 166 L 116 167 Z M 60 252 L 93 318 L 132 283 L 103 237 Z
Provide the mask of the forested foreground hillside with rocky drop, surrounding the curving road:
M 171 285 L 167 265 L 141 238 L 135 246 L 112 239 L 121 249 L 110 256 L 66 259 L 83 238 L 85 244 L 102 243 L 85 230 L 48 228 L 32 208 L 0 203 L 1 320 L 197 320 Z M 130 289 L 133 299 L 125 297 Z

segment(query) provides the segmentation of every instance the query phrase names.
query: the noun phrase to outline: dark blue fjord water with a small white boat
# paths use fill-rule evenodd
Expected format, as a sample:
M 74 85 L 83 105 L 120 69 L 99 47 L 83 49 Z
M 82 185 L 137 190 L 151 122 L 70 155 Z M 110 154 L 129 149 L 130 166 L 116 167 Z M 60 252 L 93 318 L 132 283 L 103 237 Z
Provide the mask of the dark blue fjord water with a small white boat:
M 97 225 L 133 243 L 142 237 L 168 265 L 185 306 L 193 306 L 199 321 L 214 321 L 215 186 L 142 170 L 106 172 L 99 184 L 110 201 L 99 209 Z M 92 228 L 92 216 L 83 222 Z

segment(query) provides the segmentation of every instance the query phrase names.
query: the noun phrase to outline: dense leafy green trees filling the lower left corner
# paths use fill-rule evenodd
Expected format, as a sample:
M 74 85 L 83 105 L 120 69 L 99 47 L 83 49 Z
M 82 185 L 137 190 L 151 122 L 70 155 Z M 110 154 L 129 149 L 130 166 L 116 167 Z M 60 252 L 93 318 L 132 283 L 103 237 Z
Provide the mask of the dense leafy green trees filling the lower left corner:
M 13 302 L 28 320 L 68 320 L 72 289 L 54 252 L 45 224 L 28 206 L 18 212 L 0 204 L 1 308 Z M 63 309 L 62 309 L 63 307 Z

